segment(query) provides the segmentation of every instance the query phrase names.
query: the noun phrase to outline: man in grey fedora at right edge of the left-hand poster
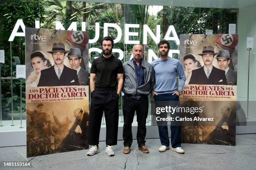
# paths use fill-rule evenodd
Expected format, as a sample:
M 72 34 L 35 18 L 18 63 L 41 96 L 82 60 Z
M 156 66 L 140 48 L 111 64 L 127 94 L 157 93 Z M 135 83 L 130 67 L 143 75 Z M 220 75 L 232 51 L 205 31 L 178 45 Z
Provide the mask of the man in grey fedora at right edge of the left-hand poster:
M 70 48 L 69 53 L 67 54 L 69 58 L 69 64 L 72 69 L 77 70 L 77 76 L 80 85 L 88 85 L 88 75 L 89 72 L 84 70 L 80 63 L 82 62 L 81 51 L 79 48 Z

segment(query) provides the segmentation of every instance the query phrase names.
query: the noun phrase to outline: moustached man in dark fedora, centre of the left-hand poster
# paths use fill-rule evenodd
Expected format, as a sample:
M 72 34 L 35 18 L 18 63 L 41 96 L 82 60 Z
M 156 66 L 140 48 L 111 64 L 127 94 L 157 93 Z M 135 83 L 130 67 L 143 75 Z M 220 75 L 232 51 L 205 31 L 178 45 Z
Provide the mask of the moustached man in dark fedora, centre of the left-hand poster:
M 52 51 L 47 52 L 52 54 L 54 66 L 41 71 L 37 87 L 79 85 L 77 71 L 64 65 L 65 54 L 69 52 L 65 45 L 54 43 Z

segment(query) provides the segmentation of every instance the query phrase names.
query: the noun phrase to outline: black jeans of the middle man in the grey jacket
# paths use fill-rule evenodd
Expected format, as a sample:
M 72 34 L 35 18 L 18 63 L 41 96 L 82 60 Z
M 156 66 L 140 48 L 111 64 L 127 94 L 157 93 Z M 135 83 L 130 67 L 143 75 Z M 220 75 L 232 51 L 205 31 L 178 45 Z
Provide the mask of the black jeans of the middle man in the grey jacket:
M 138 147 L 145 145 L 146 140 L 146 119 L 148 116 L 148 96 L 142 95 L 140 100 L 131 98 L 131 95 L 124 95 L 123 98 L 123 145 L 131 147 L 133 143 L 132 122 L 136 111 L 138 129 L 137 143 Z

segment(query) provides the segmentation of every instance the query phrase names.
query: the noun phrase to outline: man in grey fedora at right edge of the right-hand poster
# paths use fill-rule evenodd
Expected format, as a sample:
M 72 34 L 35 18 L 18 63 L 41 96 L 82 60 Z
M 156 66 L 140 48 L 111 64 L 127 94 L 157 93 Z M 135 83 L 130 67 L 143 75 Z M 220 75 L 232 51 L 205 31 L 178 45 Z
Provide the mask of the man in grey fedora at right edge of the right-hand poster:
M 236 85 L 237 72 L 232 70 L 228 65 L 230 64 L 231 57 L 228 50 L 220 50 L 216 57 L 218 65 L 221 70 L 225 71 L 228 85 Z

